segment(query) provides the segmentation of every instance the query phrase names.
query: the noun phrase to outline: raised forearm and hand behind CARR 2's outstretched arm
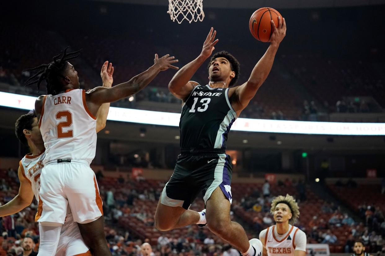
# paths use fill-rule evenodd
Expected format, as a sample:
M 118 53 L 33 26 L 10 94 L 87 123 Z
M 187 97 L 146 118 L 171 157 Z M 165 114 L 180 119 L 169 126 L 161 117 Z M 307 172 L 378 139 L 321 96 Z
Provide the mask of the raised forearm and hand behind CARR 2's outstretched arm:
M 102 70 L 100 71 L 100 77 L 102 78 L 103 87 L 111 88 L 114 79 L 112 78 L 112 74 L 114 74 L 114 67 L 112 63 L 108 64 L 106 61 Z M 105 123 L 107 122 L 108 111 L 110 110 L 110 102 L 103 103 L 102 106 L 99 107 L 99 110 L 96 114 L 96 132 L 98 133 L 100 130 L 103 130 L 105 127 Z

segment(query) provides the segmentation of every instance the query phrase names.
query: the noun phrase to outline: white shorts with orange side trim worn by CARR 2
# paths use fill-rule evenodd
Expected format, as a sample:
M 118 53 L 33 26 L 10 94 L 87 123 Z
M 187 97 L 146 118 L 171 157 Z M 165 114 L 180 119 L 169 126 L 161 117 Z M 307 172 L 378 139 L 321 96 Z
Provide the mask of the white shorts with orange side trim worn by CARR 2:
M 35 221 L 41 225 L 64 224 L 68 206 L 78 223 L 87 223 L 103 215 L 95 173 L 86 161 L 48 162 L 42 169 L 40 182 L 41 202 Z

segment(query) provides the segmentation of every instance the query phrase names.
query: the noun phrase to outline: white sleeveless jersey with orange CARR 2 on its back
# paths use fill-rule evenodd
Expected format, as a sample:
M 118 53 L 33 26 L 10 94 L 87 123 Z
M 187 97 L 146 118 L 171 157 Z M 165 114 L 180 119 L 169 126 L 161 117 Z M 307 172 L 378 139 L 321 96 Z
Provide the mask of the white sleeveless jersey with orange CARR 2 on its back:
M 85 104 L 85 91 L 67 90 L 47 95 L 39 120 L 46 157 L 43 164 L 57 159 L 87 160 L 96 150 L 96 118 Z

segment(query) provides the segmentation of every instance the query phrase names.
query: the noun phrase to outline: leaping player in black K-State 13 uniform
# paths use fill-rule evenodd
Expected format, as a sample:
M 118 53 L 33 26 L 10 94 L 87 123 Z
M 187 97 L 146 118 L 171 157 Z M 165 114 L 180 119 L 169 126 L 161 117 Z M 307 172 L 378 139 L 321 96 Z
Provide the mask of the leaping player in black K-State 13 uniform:
M 268 50 L 255 65 L 248 81 L 234 86 L 239 63 L 228 52 L 216 53 L 209 64 L 209 84 L 190 81 L 198 68 L 211 56 L 216 31 L 211 28 L 198 58 L 181 68 L 169 83 L 169 90 L 182 99 L 181 154 L 169 182 L 163 189 L 155 213 L 158 230 L 167 231 L 191 224 L 206 225 L 243 255 L 260 255 L 259 239 L 248 241 L 241 225 L 230 220 L 231 160 L 225 154 L 228 132 L 241 111 L 249 104 L 267 78 L 278 46 L 285 37 L 285 19 L 271 35 Z M 206 210 L 188 210 L 199 192 Z

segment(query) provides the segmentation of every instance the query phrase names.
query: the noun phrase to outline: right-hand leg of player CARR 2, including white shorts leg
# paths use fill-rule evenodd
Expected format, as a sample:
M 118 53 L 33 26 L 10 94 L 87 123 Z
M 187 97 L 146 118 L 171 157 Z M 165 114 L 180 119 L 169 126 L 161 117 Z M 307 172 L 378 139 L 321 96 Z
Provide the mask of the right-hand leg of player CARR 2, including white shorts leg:
M 68 165 L 65 194 L 84 242 L 94 256 L 111 255 L 104 235 L 102 199 L 95 173 L 83 164 Z

